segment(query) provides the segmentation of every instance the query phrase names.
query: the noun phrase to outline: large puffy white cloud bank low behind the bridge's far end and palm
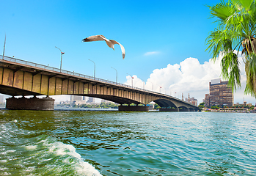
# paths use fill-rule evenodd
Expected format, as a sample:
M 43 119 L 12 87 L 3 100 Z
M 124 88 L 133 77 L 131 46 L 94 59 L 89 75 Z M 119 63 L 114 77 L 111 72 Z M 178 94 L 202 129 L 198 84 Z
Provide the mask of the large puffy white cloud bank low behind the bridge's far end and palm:
M 246 100 L 247 103 L 255 104 L 255 98 L 250 95 L 244 95 L 244 87 L 246 85 L 246 75 L 244 72 L 244 62 L 239 57 L 241 63 L 241 89 L 238 89 L 234 94 L 234 103 L 242 103 Z M 131 76 L 127 76 L 125 84 L 131 85 Z M 168 95 L 181 98 L 182 93 L 184 97 L 197 98 L 198 103 L 202 102 L 205 98 L 205 94 L 209 93 L 209 82 L 214 78 L 221 77 L 221 65 L 220 59 L 217 59 L 215 63 L 209 59 L 208 62 L 200 64 L 196 58 L 187 58 L 180 64 L 167 65 L 167 67 L 153 70 L 150 74 L 150 78 L 147 79 L 145 89 L 152 90 L 154 92 L 160 92 Z M 222 81 L 225 81 L 222 78 Z M 143 81 L 134 76 L 134 87 L 143 88 Z M 153 84 L 153 85 L 152 85 Z M 176 92 L 176 94 L 175 94 Z M 244 98 L 244 100 L 243 100 Z

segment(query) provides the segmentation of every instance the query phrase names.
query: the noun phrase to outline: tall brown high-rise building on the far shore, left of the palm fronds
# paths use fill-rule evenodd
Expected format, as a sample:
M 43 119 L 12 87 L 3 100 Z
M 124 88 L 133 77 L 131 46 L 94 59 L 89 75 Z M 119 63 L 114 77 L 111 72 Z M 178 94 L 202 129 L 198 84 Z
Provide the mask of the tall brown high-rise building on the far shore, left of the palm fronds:
M 210 94 L 205 95 L 205 106 L 233 106 L 234 97 L 228 81 L 222 81 L 220 78 L 209 82 Z

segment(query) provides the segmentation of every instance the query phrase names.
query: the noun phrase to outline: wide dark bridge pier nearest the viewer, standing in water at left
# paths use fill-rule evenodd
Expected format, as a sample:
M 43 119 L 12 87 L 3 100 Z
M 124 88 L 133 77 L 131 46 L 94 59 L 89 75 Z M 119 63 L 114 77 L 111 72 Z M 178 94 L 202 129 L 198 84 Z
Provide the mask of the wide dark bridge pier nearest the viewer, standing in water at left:
M 54 110 L 54 99 L 53 98 L 7 98 L 6 102 L 7 109 L 15 110 L 41 110 L 49 111 Z

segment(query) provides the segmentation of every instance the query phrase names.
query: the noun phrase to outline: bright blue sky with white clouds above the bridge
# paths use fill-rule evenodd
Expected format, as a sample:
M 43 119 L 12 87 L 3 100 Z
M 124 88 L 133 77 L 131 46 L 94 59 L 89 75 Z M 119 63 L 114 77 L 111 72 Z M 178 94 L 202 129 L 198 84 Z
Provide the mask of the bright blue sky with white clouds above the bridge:
M 133 76 L 135 87 L 178 98 L 183 93 L 201 103 L 209 82 L 222 78 L 219 61 L 211 62 L 211 53 L 205 51 L 205 39 L 216 27 L 207 5 L 219 2 L 0 0 L 0 45 L 4 48 L 6 35 L 5 56 L 59 68 L 56 46 L 65 52 L 62 70 L 93 76 L 95 62 L 97 78 L 117 77 L 131 85 Z M 121 43 L 125 59 L 119 45 L 113 50 L 104 41 L 81 42 L 96 34 Z M 234 103 L 255 104 L 255 98 L 244 95 L 243 62 L 241 74 Z

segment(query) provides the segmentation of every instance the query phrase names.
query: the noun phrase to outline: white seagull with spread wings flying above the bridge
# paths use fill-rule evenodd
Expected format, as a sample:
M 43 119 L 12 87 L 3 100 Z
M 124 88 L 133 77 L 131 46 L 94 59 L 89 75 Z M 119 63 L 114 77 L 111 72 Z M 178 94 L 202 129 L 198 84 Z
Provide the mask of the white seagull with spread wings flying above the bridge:
M 109 48 L 113 48 L 113 50 L 114 50 L 114 44 L 120 45 L 121 50 L 122 50 L 122 59 L 125 59 L 125 48 L 123 47 L 123 45 L 118 43 L 116 40 L 106 39 L 106 37 L 104 37 L 103 35 L 92 35 L 92 36 L 89 36 L 89 37 L 83 39 L 82 42 L 92 42 L 92 41 L 100 41 L 100 40 L 105 40 L 105 42 L 109 46 Z

